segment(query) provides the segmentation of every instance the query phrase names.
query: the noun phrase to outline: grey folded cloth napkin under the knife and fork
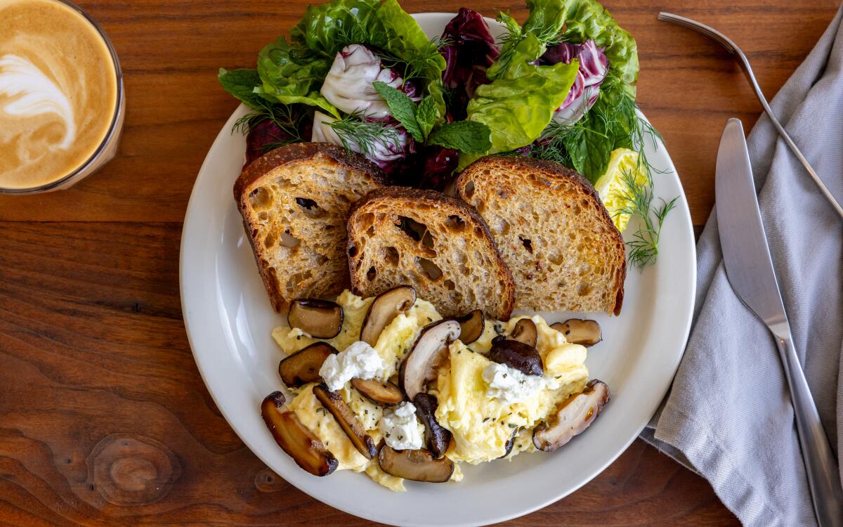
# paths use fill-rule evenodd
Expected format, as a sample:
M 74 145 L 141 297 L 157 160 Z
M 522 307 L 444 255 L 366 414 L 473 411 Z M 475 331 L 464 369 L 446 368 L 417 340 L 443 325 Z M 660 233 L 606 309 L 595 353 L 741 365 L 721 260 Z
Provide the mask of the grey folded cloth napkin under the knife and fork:
M 841 13 L 772 103 L 838 201 L 843 201 Z M 748 143 L 793 340 L 840 458 L 843 222 L 766 116 Z M 688 347 L 668 397 L 642 438 L 710 481 L 744 525 L 815 525 L 779 354 L 770 332 L 729 285 L 714 212 L 697 253 L 695 323 Z

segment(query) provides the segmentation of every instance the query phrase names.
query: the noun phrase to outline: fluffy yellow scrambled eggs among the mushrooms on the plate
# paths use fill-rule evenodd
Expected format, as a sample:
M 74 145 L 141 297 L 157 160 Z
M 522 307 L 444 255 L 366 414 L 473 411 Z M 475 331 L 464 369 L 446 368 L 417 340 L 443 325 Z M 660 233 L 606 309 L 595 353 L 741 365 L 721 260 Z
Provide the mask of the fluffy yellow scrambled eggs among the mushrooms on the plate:
M 344 350 L 360 336 L 362 320 L 368 312 L 373 298 L 360 298 L 348 291 L 336 300 L 344 312 L 342 330 L 338 336 L 327 339 L 337 350 Z M 497 335 L 508 335 L 522 318 L 533 320 L 538 331 L 537 349 L 544 363 L 545 376 L 552 376 L 559 384 L 555 390 L 539 390 L 529 398 L 509 404 L 486 395 L 486 381 L 483 370 L 491 364 L 486 353 L 491 340 Z M 385 377 L 397 384 L 397 373 L 401 361 L 411 351 L 421 328 L 442 317 L 432 304 L 417 299 L 406 313 L 400 314 L 384 329 L 374 349 L 384 361 Z M 298 352 L 317 339 L 303 331 L 287 326 L 272 331 L 279 347 L 287 354 Z M 506 453 L 507 442 L 513 438 L 513 450 L 508 459 L 520 452 L 531 452 L 533 428 L 550 415 L 565 399 L 583 390 L 588 379 L 585 367 L 586 349 L 565 341 L 565 337 L 540 316 L 514 317 L 507 322 L 486 321 L 486 328 L 479 339 L 466 346 L 455 341 L 448 349 L 448 362 L 439 371 L 435 389 L 431 390 L 439 401 L 437 421 L 448 428 L 454 439 L 445 454 L 454 460 L 452 481 L 460 481 L 463 473 L 459 462 L 476 465 L 483 461 L 496 460 Z M 339 464 L 336 470 L 365 472 L 373 481 L 394 491 L 405 491 L 404 480 L 389 476 L 378 465 L 377 458 L 367 460 L 346 437 L 336 420 L 321 406 L 313 395 L 314 384 L 307 384 L 287 406 L 316 434 L 336 456 Z M 372 436 L 375 444 L 381 439 L 378 429 L 383 409 L 368 401 L 353 390 L 349 384 L 340 390 L 357 419 Z

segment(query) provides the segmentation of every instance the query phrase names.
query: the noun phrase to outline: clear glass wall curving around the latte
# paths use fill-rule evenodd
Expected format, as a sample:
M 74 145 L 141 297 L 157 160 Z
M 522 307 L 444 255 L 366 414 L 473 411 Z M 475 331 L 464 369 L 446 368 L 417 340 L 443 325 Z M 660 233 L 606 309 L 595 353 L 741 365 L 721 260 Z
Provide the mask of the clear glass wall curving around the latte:
M 126 110 L 126 99 L 123 89 L 123 73 L 121 71 L 120 62 L 117 59 L 117 53 L 114 46 L 111 45 L 111 41 L 108 36 L 105 35 L 105 31 L 99 27 L 99 24 L 97 24 L 97 22 L 91 18 L 88 13 L 85 13 L 82 8 L 79 8 L 76 4 L 69 2 L 68 0 L 53 1 L 66 5 L 68 8 L 71 8 L 73 11 L 82 15 L 84 19 L 87 19 L 94 27 L 97 34 L 99 34 L 102 38 L 105 46 L 108 48 L 111 56 L 111 63 L 114 65 L 113 71 L 108 72 L 108 74 L 114 75 L 116 82 L 115 94 L 117 99 L 114 105 L 114 113 L 111 116 L 108 132 L 105 133 L 105 136 L 100 141 L 99 146 L 94 150 L 94 153 L 92 153 L 89 158 L 83 162 L 83 164 L 78 166 L 78 168 L 73 169 L 66 175 L 59 176 L 56 180 L 52 180 L 39 186 L 32 186 L 29 188 L 3 188 L 3 186 L 0 186 L 0 194 L 37 194 L 40 192 L 67 189 L 68 187 L 78 183 L 78 181 L 94 174 L 94 172 L 105 166 L 105 164 L 107 164 L 111 159 L 114 159 L 117 153 L 118 143 L 120 143 L 120 136 L 123 130 L 123 116 Z

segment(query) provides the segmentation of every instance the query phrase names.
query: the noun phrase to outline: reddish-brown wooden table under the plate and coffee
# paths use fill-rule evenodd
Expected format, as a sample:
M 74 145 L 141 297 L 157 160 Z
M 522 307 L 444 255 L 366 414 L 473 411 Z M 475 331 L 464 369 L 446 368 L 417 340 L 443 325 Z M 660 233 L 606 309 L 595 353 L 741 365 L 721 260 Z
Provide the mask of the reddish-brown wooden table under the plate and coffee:
M 305 0 L 85 0 L 126 76 L 120 155 L 70 191 L 0 197 L 0 524 L 367 524 L 299 492 L 240 442 L 202 384 L 181 319 L 179 242 L 194 178 L 236 103 L 217 68 L 252 67 Z M 837 0 L 605 0 L 636 36 L 639 101 L 694 224 L 714 199 L 728 117 L 760 107 L 715 44 L 731 35 L 772 95 Z M 456 0 L 407 0 L 410 12 Z M 475 0 L 493 16 L 518 2 Z M 636 441 L 580 491 L 511 524 L 727 525 L 708 483 Z

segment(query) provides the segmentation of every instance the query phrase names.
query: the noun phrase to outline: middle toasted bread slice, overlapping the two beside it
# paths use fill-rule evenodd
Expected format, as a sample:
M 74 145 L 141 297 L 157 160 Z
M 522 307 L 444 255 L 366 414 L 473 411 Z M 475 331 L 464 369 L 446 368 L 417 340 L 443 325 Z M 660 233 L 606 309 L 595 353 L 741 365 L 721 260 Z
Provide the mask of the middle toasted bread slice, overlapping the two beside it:
M 348 219 L 352 290 L 363 296 L 416 288 L 443 316 L 482 309 L 507 320 L 513 276 L 477 212 L 435 191 L 389 187 L 370 192 Z

